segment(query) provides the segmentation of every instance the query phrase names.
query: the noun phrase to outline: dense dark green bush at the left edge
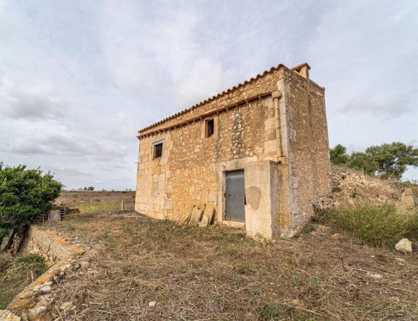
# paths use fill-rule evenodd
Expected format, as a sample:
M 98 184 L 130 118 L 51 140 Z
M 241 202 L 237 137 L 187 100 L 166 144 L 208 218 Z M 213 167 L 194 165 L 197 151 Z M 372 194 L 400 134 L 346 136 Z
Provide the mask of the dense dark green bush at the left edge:
M 47 172 L 26 170 L 25 165 L 0 163 L 0 243 L 10 232 L 31 224 L 33 218 L 47 211 L 59 197 L 63 184 Z

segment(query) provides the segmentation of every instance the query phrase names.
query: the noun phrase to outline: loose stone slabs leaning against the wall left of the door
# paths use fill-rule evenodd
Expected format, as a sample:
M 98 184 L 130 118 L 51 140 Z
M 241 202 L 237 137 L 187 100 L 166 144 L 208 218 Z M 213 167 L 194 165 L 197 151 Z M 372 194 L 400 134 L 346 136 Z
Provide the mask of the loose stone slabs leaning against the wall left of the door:
M 203 203 L 186 204 L 183 214 L 177 221 L 179 225 L 205 227 L 212 223 L 215 208 L 207 207 Z

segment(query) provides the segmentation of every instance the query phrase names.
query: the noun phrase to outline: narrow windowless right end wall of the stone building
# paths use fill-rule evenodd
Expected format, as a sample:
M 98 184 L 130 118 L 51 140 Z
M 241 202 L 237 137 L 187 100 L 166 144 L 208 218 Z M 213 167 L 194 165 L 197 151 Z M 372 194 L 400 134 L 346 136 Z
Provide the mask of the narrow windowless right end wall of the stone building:
M 284 95 L 288 122 L 288 184 L 291 230 L 298 232 L 314 214 L 313 204 L 330 193 L 330 156 L 325 89 L 285 70 Z

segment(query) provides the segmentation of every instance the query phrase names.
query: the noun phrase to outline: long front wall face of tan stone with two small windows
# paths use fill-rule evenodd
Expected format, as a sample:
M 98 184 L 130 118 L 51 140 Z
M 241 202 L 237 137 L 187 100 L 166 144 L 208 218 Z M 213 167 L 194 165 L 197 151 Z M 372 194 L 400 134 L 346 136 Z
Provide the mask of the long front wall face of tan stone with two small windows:
M 219 112 L 214 118 L 217 133 L 211 137 L 202 135 L 206 119 L 173 128 L 164 134 L 141 137 L 137 211 L 155 218 L 178 219 L 187 203 L 204 202 L 219 209 L 217 205 L 223 190 L 219 186 L 219 172 L 243 169 L 249 161 L 277 160 L 271 96 Z M 153 159 L 153 142 L 162 140 L 162 137 L 162 157 Z M 234 160 L 240 162 L 231 167 L 228 163 Z M 216 211 L 215 220 L 222 221 L 218 214 Z

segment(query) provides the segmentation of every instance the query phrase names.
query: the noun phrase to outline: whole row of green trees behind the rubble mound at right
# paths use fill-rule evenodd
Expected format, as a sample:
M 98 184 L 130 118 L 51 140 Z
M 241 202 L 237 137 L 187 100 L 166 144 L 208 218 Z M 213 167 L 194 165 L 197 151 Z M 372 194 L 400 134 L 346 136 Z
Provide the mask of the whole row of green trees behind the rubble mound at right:
M 348 154 L 346 147 L 337 144 L 330 149 L 330 158 L 335 165 L 345 165 L 383 179 L 400 179 L 407 166 L 418 166 L 418 149 L 402 142 L 392 142 Z

